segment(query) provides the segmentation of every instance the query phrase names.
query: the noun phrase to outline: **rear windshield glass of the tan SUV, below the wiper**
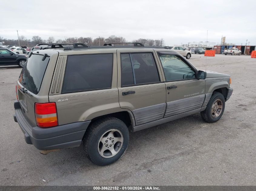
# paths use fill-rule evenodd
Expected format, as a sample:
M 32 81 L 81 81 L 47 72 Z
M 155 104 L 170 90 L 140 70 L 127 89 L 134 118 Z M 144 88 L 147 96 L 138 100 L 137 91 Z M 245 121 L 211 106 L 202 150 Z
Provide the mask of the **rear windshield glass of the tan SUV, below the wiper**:
M 22 68 L 19 77 L 19 82 L 34 94 L 38 94 L 40 90 L 45 70 L 50 60 L 49 57 L 46 57 L 42 61 L 42 58 L 43 55 L 32 54 Z

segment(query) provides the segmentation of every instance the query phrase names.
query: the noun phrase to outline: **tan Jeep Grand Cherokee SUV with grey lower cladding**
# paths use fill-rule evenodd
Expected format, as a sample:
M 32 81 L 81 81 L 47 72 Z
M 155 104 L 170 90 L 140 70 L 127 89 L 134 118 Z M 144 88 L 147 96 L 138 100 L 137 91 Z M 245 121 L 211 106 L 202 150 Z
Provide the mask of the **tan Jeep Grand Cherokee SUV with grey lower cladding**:
M 16 85 L 14 120 L 39 150 L 82 144 L 98 165 L 124 154 L 128 129 L 197 112 L 218 121 L 233 91 L 229 75 L 198 71 L 164 47 L 58 47 L 30 53 Z

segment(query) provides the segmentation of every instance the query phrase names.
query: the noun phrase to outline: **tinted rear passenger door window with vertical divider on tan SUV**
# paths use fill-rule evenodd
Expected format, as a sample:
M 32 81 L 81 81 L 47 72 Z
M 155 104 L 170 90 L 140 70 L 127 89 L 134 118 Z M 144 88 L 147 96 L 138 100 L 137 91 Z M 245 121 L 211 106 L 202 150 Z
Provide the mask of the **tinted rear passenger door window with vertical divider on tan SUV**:
M 152 53 L 121 54 L 121 86 L 159 82 Z

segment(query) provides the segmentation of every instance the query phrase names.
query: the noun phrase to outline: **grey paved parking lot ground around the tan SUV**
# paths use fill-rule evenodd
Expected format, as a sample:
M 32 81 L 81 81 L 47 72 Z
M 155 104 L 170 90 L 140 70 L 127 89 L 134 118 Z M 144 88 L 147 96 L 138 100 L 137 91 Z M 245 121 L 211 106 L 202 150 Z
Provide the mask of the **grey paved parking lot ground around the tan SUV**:
M 189 61 L 205 69 L 206 57 Z M 0 66 L 0 185 L 256 185 L 256 59 L 207 57 L 229 74 L 233 95 L 216 123 L 200 113 L 130 133 L 121 160 L 100 167 L 82 147 L 42 155 L 13 120 L 17 66 Z

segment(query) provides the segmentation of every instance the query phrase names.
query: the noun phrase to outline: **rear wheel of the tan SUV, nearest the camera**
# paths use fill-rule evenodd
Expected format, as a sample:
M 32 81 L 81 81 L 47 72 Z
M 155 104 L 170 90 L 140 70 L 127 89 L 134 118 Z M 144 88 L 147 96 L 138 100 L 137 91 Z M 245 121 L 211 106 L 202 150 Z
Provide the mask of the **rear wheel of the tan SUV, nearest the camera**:
M 100 166 L 117 161 L 125 153 L 129 131 L 123 121 L 115 117 L 95 121 L 87 130 L 83 148 L 87 157 Z

